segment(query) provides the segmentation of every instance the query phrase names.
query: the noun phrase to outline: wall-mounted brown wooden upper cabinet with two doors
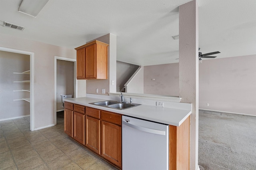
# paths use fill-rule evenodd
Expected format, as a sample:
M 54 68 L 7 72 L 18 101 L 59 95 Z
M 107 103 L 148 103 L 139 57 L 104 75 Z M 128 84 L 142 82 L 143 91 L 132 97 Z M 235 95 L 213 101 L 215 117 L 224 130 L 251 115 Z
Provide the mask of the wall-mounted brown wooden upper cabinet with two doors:
M 95 40 L 75 49 L 77 79 L 108 79 L 108 44 Z

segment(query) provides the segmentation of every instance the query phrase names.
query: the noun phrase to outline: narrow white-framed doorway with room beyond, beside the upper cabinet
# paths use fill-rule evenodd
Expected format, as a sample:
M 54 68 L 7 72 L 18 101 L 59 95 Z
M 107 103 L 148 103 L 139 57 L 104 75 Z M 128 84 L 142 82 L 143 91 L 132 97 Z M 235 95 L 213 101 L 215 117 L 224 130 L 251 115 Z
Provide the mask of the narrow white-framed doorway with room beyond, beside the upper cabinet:
M 64 110 L 60 95 L 77 95 L 76 59 L 54 57 L 54 125 L 57 112 Z

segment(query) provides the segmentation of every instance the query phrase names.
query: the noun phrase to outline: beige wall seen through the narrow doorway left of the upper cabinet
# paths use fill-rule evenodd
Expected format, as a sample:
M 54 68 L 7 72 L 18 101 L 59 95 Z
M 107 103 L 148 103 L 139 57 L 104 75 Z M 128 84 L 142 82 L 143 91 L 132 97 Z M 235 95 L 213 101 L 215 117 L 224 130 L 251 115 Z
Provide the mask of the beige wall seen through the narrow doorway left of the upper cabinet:
M 56 78 L 56 109 L 64 110 L 60 95 L 74 97 L 74 62 L 57 59 Z

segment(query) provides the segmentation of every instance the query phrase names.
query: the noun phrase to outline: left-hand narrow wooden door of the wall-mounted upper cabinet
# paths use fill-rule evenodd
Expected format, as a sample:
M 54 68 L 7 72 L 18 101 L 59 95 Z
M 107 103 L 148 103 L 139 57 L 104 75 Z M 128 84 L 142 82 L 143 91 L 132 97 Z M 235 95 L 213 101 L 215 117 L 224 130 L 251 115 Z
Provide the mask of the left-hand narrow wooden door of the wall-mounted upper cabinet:
M 76 78 L 85 79 L 85 49 L 78 49 L 76 51 Z

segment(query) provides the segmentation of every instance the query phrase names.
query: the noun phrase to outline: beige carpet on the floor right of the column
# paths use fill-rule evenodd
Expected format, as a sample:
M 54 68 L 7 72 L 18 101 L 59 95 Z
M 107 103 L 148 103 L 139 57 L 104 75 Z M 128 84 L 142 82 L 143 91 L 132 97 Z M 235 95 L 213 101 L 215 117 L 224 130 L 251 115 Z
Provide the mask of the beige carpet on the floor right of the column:
M 199 110 L 200 170 L 256 170 L 256 117 Z

